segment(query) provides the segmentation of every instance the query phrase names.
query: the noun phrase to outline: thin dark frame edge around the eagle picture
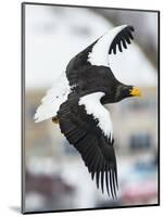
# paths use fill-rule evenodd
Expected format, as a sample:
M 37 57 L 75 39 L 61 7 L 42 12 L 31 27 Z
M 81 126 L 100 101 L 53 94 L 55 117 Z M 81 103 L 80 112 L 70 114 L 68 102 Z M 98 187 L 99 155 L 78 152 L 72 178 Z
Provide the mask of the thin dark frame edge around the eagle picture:
M 85 8 L 85 9 L 105 9 L 105 10 L 122 10 L 122 11 L 139 11 L 139 12 L 154 12 L 157 14 L 157 203 L 141 204 L 141 205 L 126 205 L 113 207 L 93 207 L 93 208 L 72 208 L 72 209 L 56 209 L 56 210 L 25 210 L 25 7 L 26 5 L 46 5 L 46 7 L 68 7 L 68 8 Z M 73 5 L 73 4 L 58 4 L 58 3 L 40 3 L 40 2 L 22 2 L 21 3 L 21 141 L 22 141 L 22 156 L 21 156 L 21 212 L 22 214 L 43 214 L 43 213 L 65 213 L 65 212 L 81 212 L 81 210 L 101 210 L 101 209 L 116 209 L 116 208 L 134 208 L 134 207 L 149 207 L 160 206 L 160 10 L 143 10 L 143 9 L 127 9 L 127 8 L 109 8 L 94 5 Z

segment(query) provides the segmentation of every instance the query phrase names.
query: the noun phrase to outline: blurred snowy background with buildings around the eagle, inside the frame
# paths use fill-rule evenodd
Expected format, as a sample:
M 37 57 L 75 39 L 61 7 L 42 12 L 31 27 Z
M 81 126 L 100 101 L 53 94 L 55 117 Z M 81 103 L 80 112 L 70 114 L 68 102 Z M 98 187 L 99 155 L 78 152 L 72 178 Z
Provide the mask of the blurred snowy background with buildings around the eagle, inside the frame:
M 118 200 L 97 190 L 77 151 L 51 120 L 35 124 L 41 98 L 70 60 L 112 27 L 135 41 L 111 55 L 114 75 L 141 99 L 106 105 L 118 165 Z M 27 4 L 25 8 L 25 212 L 157 203 L 157 13 Z

